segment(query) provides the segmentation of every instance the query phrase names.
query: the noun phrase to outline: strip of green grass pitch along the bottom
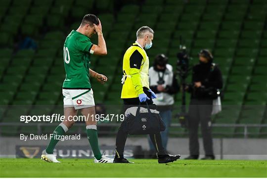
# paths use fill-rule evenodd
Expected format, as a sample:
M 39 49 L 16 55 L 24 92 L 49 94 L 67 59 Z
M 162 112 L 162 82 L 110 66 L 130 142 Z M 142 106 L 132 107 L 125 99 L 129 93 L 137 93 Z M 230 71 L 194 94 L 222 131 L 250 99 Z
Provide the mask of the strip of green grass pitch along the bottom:
M 267 177 L 267 161 L 178 160 L 158 164 L 133 159 L 135 164 L 94 164 L 92 159 L 0 159 L 0 177 Z

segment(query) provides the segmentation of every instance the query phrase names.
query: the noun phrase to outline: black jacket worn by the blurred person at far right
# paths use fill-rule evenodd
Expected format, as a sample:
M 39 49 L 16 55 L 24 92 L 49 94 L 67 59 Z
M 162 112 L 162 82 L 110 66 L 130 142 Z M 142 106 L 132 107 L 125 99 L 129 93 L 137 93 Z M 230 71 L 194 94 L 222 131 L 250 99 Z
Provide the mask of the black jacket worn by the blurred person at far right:
M 212 62 L 195 65 L 192 73 L 192 84 L 189 88 L 191 98 L 212 99 L 214 96 L 211 93 L 223 88 L 222 72 L 218 65 Z M 195 82 L 201 82 L 201 87 L 194 87 Z

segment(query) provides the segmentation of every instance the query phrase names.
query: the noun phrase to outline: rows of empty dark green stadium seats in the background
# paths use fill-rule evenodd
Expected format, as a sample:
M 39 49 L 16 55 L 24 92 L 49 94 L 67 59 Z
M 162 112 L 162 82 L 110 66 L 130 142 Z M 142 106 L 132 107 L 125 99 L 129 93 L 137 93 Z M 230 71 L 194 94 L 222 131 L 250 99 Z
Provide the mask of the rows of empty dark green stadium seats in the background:
M 214 123 L 267 123 L 265 0 L 144 0 L 141 5 L 132 0 L 119 7 L 115 4 L 115 0 L 1 0 L 0 105 L 49 105 L 44 108 L 46 112 L 62 105 L 64 39 L 78 28 L 84 14 L 95 13 L 103 26 L 108 55 L 93 56 L 91 68 L 109 78 L 105 85 L 91 79 L 96 103 L 122 104 L 123 54 L 134 43 L 136 30 L 148 25 L 155 31 L 153 47 L 147 50 L 150 65 L 156 54 L 165 53 L 175 67 L 180 37 L 193 58 L 191 65 L 197 63 L 200 49 L 213 52 L 224 82 L 223 111 L 214 116 Z M 33 39 L 37 48 L 19 49 L 13 45 L 25 37 Z M 91 41 L 96 43 L 97 37 Z M 178 94 L 175 104 L 179 105 L 180 100 Z M 187 95 L 187 104 L 189 100 Z M 24 110 L 31 114 L 34 109 Z M 120 112 L 121 108 L 111 110 Z M 2 107 L 0 112 L 0 121 L 15 121 L 12 111 Z M 18 132 L 24 130 L 17 128 Z M 179 136 L 185 134 L 183 129 L 171 131 Z M 234 127 L 214 128 L 219 135 L 238 136 L 243 132 Z M 266 136 L 267 128 L 255 127 L 248 132 L 250 136 Z

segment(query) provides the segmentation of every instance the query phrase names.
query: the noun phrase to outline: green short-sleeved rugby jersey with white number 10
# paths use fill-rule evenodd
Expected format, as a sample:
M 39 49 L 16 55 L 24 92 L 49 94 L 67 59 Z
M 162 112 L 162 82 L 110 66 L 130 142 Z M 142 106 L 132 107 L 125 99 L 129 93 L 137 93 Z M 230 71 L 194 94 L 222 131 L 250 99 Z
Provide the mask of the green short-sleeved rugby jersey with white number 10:
M 67 89 L 89 89 L 90 39 L 72 30 L 64 43 L 64 67 L 66 79 L 63 88 Z

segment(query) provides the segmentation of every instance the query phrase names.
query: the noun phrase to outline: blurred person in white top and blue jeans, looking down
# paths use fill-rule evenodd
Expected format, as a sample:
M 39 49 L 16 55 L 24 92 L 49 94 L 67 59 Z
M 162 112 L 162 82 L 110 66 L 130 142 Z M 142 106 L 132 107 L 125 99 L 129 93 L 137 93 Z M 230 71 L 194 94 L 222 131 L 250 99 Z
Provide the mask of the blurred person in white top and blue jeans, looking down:
M 168 64 L 168 57 L 164 54 L 158 54 L 155 57 L 153 66 L 149 68 L 149 80 L 150 89 L 157 95 L 153 102 L 157 105 L 162 120 L 166 125 L 166 130 L 161 132 L 161 136 L 163 146 L 167 149 L 169 126 L 171 124 L 172 107 L 174 104 L 173 94 L 178 92 L 179 86 L 173 73 L 173 67 Z M 150 150 L 153 150 L 154 147 L 150 140 L 149 145 Z

